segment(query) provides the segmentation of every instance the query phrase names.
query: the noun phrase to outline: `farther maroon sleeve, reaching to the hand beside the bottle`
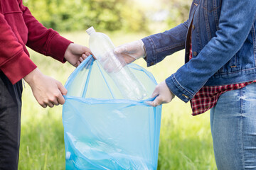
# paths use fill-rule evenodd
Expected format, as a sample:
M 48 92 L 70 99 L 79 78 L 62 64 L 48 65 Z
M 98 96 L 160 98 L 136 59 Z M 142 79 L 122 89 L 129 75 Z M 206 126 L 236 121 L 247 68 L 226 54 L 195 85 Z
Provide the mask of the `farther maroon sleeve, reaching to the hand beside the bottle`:
M 28 28 L 28 42 L 26 45 L 36 52 L 53 57 L 60 62 L 65 62 L 65 50 L 72 42 L 60 36 L 55 30 L 45 28 L 23 4 L 21 4 L 21 10 Z

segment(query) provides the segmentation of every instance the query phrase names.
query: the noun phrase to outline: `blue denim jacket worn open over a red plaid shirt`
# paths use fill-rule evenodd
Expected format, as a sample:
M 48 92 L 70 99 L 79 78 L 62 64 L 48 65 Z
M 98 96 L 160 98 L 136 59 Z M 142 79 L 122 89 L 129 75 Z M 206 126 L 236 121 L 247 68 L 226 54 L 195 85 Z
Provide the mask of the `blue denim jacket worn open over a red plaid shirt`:
M 256 79 L 255 0 L 193 0 L 188 21 L 143 38 L 148 66 L 185 48 L 185 64 L 166 79 L 182 101 L 202 86 Z M 193 58 L 188 61 L 189 36 Z

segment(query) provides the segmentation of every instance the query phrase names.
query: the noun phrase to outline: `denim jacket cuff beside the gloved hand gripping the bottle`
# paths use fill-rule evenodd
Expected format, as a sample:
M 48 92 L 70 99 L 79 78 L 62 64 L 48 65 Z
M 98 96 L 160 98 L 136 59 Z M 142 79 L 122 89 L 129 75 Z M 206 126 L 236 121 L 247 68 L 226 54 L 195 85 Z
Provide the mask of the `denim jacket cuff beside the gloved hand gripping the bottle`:
M 146 57 L 144 58 L 146 60 L 147 67 L 152 66 L 157 63 L 157 55 L 156 55 L 156 47 L 154 45 L 153 40 L 150 37 L 146 37 L 142 39 L 142 42 L 144 43 Z

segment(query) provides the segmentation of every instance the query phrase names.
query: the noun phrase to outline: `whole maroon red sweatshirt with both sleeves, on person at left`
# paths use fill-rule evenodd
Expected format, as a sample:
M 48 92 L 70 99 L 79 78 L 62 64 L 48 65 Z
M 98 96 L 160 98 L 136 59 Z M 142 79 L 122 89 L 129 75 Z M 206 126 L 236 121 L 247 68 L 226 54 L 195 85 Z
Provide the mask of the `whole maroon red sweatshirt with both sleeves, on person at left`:
M 0 71 L 12 84 L 36 69 L 25 45 L 65 62 L 65 50 L 70 43 L 39 23 L 22 0 L 0 0 Z

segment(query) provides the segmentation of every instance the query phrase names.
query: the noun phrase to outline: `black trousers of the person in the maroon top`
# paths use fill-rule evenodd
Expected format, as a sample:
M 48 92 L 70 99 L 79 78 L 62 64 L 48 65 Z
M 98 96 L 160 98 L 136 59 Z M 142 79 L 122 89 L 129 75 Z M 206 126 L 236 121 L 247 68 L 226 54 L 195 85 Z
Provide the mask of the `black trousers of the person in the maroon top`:
M 18 169 L 22 89 L 0 71 L 0 170 Z

